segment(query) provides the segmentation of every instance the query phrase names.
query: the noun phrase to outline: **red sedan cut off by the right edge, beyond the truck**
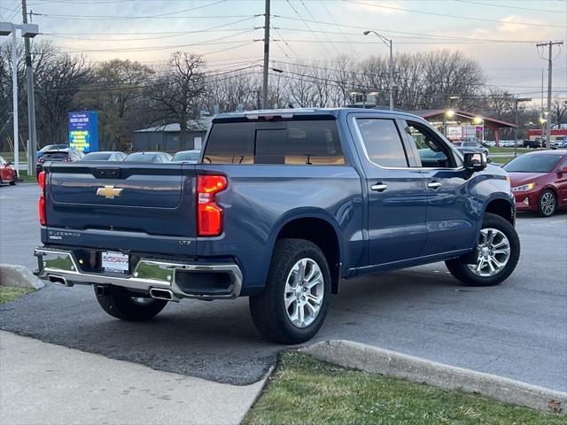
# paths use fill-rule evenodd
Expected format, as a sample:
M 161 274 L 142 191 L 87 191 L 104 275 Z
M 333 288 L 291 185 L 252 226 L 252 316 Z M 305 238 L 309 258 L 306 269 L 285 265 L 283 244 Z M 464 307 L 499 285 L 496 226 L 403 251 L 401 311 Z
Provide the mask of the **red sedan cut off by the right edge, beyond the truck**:
M 518 211 L 550 217 L 567 207 L 567 150 L 525 153 L 503 166 Z

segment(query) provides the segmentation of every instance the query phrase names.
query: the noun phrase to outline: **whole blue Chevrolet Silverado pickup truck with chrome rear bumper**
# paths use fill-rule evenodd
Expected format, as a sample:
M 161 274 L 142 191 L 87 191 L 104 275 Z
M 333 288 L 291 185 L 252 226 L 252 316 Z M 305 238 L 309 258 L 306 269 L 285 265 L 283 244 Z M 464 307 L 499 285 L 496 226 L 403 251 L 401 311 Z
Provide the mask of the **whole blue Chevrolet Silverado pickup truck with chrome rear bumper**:
M 121 320 L 249 297 L 263 336 L 299 344 L 343 280 L 445 261 L 465 285 L 496 285 L 520 253 L 506 172 L 403 112 L 221 114 L 198 164 L 43 169 L 35 273 L 94 285 Z

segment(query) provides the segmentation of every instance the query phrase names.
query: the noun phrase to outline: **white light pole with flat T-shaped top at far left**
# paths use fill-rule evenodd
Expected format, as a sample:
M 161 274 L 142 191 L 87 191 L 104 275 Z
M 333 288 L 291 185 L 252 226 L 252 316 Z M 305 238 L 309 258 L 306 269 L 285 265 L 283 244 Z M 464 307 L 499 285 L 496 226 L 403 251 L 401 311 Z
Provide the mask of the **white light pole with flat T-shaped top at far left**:
M 34 38 L 39 34 L 39 27 L 35 24 L 12 24 L 11 22 L 0 22 L 0 35 L 12 34 L 12 108 L 13 108 L 13 124 L 14 124 L 14 168 L 19 174 L 19 135 L 18 135 L 18 43 L 16 42 L 16 30 L 21 31 L 24 38 Z M 31 117 L 27 117 L 31 120 Z M 31 137 L 31 135 L 28 135 Z M 35 151 L 35 150 L 32 150 Z M 35 158 L 29 158 L 28 162 Z

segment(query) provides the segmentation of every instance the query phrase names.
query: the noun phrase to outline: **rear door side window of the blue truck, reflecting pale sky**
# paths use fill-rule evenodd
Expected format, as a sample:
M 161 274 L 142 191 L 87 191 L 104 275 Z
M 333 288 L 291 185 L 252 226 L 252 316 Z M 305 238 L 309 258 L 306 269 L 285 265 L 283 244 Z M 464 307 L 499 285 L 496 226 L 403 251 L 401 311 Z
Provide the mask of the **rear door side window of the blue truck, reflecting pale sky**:
M 393 120 L 359 119 L 356 122 L 370 161 L 379 166 L 408 166 L 400 133 Z

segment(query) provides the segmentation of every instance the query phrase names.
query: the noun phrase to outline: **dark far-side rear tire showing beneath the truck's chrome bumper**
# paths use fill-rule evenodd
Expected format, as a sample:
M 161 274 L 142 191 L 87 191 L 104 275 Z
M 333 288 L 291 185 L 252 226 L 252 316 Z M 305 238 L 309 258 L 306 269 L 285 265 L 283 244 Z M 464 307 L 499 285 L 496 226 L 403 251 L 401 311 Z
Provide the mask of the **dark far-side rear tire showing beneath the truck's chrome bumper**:
M 95 295 L 103 310 L 121 321 L 148 321 L 167 305 L 165 299 L 147 298 L 147 302 L 141 303 L 122 294 L 98 295 L 95 291 Z

